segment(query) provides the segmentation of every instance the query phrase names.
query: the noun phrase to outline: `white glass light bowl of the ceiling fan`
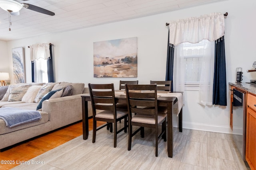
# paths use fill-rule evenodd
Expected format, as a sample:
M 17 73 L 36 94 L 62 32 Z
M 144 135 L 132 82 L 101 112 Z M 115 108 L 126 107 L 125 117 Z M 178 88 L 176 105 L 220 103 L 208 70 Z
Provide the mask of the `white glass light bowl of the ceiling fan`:
M 8 12 L 18 12 L 23 6 L 14 0 L 0 0 L 0 7 Z

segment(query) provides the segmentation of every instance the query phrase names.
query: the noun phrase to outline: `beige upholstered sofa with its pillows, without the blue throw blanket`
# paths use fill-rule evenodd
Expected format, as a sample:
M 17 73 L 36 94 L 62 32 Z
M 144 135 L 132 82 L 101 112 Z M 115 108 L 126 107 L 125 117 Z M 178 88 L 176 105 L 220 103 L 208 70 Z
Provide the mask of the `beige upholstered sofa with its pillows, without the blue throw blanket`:
M 20 83 L 0 86 L 0 107 L 38 110 L 42 116 L 38 121 L 14 127 L 7 127 L 6 122 L 0 119 L 0 150 L 82 120 L 81 94 L 84 93 L 89 91 L 83 83 Z M 88 108 L 88 116 L 92 116 L 90 102 Z

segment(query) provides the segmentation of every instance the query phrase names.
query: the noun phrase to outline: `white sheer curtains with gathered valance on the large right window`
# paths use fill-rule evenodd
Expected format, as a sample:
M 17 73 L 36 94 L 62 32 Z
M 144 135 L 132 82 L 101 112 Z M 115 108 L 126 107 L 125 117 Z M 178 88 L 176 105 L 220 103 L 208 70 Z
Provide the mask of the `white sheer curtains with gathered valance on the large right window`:
M 204 55 L 199 85 L 198 103 L 212 105 L 214 76 L 214 41 L 224 35 L 224 15 L 213 13 L 200 18 L 170 21 L 170 44 L 174 47 L 174 91 L 185 90 L 185 63 L 183 43 L 204 41 Z M 208 41 L 207 41 L 208 40 Z M 186 94 L 184 94 L 186 95 Z M 185 101 L 185 100 L 184 100 Z

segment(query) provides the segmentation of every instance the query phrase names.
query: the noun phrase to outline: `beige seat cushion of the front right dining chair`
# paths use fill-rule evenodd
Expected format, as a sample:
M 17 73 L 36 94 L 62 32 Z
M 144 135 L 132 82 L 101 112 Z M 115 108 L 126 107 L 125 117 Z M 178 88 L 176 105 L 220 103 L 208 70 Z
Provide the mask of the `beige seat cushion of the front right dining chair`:
M 158 123 L 163 121 L 166 117 L 166 113 L 158 112 Z M 146 116 L 146 115 L 134 115 L 132 117 L 132 122 L 138 123 L 148 123 L 148 124 L 155 124 L 155 119 L 153 116 Z

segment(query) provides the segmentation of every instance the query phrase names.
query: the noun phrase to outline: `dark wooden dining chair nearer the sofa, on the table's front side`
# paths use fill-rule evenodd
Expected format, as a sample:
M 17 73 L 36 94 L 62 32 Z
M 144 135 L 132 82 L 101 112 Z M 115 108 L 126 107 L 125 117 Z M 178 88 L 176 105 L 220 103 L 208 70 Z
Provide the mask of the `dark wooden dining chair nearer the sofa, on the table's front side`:
M 96 141 L 96 131 L 114 123 L 114 148 L 116 147 L 117 134 L 124 130 L 127 132 L 127 109 L 116 109 L 114 84 L 88 84 L 92 103 L 93 135 L 92 143 Z M 117 122 L 124 119 L 124 127 L 117 131 Z M 106 124 L 97 128 L 97 121 L 105 121 Z

